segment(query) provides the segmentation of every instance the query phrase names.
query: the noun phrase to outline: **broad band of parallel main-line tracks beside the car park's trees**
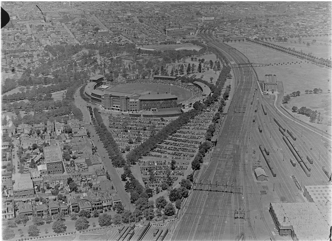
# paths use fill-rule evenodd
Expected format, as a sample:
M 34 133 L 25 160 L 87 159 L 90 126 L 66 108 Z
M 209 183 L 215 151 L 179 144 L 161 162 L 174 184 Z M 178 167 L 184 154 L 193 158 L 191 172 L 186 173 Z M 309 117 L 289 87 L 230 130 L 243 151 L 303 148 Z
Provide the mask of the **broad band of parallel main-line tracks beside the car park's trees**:
M 227 47 L 218 42 L 209 42 L 213 47 L 226 51 Z M 225 53 L 226 57 L 237 63 L 244 59 L 232 53 Z M 242 193 L 234 193 L 234 187 L 242 186 L 238 178 L 241 155 L 241 137 L 245 131 L 241 129 L 244 112 L 236 112 L 238 108 L 246 108 L 246 99 L 254 91 L 252 79 L 244 76 L 249 67 L 234 69 L 236 79 L 232 103 L 224 122 L 223 130 L 218 135 L 218 143 L 212 154 L 211 162 L 205 163 L 200 170 L 197 182 L 206 183 L 207 190 L 214 183 L 227 185 L 230 192 L 210 192 L 195 190 L 188 200 L 188 206 L 175 230 L 174 240 L 220 240 L 234 239 L 244 233 L 243 220 L 234 219 L 234 210 L 243 209 Z M 249 85 L 248 85 L 249 83 Z M 206 192 L 208 192 L 206 194 Z M 234 202 L 235 200 L 235 202 Z M 235 203 L 235 205 L 234 205 Z M 220 207 L 216 212 L 209 207 Z M 229 211 L 231 210 L 231 211 Z M 234 221 L 235 220 L 235 221 Z M 228 223 L 228 225 L 225 225 Z M 234 225 L 235 224 L 235 225 Z

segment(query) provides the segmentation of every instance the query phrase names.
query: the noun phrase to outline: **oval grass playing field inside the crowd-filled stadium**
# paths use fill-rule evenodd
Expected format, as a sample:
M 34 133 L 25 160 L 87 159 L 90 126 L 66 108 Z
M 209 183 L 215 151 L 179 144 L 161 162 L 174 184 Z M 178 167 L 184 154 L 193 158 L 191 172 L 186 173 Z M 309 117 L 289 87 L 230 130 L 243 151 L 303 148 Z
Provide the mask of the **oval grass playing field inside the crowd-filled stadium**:
M 108 90 L 144 95 L 144 93 L 148 94 L 149 92 L 150 94 L 157 94 L 158 89 L 159 94 L 165 94 L 167 92 L 176 95 L 178 97 L 178 102 L 186 101 L 193 96 L 189 90 L 185 90 L 178 86 L 152 83 L 118 85 Z

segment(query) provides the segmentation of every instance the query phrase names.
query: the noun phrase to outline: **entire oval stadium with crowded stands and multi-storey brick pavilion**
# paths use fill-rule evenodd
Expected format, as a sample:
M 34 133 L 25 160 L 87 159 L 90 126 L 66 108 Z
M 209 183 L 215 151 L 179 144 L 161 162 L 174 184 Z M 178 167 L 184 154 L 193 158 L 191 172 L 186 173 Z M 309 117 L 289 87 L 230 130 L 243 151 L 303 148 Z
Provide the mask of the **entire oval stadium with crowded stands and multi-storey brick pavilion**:
M 203 103 L 211 96 L 210 88 L 204 83 L 199 81 L 182 83 L 173 76 L 155 75 L 153 79 L 138 78 L 133 80 L 118 77 L 112 82 L 99 81 L 103 77 L 103 75 L 91 77 L 89 81 L 93 81 L 86 85 L 85 93 L 90 98 L 101 102 L 104 110 L 121 112 L 152 111 L 155 114 L 161 109 L 164 109 L 163 112 L 165 112 L 167 108 L 189 109 L 193 107 L 196 101 Z M 137 86 L 137 84 L 141 85 Z M 169 93 L 166 90 L 166 85 L 169 86 Z M 146 87 L 144 92 L 138 88 L 142 89 L 142 86 Z M 157 88 L 163 89 L 164 92 L 157 91 Z M 186 91 L 181 91 L 179 88 Z M 154 92 L 151 91 L 152 89 L 154 89 Z M 181 112 L 177 111 L 177 113 Z

